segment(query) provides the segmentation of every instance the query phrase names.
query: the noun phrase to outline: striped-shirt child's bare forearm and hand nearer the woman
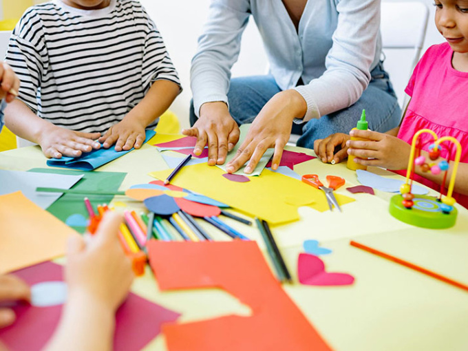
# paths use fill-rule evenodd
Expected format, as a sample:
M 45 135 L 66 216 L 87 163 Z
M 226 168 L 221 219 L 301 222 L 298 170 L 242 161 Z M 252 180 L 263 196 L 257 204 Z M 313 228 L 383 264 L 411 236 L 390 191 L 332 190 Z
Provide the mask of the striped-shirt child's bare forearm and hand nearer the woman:
M 180 92 L 180 86 L 166 80 L 155 81 L 145 98 L 102 136 L 105 149 L 116 144 L 116 151 L 140 149 L 145 141 L 145 128 L 166 111 Z

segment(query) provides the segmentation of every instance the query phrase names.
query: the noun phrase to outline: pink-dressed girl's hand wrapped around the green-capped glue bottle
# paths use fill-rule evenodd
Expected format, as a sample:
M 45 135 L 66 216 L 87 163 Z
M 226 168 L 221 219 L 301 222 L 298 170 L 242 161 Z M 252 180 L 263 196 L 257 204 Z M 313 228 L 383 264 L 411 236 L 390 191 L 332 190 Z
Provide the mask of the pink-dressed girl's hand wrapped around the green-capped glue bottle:
M 386 169 L 405 169 L 408 165 L 411 146 L 405 141 L 377 131 L 350 131 L 356 138 L 368 139 L 348 140 L 348 154 L 356 156 L 354 162 L 364 166 L 384 167 Z M 370 158 L 370 160 L 365 160 Z

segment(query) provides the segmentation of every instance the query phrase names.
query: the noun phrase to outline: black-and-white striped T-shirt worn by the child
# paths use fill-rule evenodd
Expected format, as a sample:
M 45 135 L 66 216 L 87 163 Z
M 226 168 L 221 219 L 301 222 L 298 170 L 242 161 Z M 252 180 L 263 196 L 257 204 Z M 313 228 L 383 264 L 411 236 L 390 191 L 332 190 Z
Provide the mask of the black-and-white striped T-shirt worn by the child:
M 6 61 L 21 80 L 19 98 L 76 131 L 104 133 L 154 81 L 180 85 L 156 25 L 134 0 L 111 0 L 101 10 L 60 0 L 33 6 L 12 33 Z

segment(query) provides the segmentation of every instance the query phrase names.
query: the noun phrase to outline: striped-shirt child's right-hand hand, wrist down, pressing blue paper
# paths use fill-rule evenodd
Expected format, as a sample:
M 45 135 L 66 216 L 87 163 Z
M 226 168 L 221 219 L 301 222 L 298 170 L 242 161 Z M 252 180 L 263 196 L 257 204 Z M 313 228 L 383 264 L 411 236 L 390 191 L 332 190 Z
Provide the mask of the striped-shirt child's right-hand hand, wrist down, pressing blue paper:
M 116 151 L 129 150 L 132 147 L 140 149 L 145 142 L 145 127 L 139 121 L 129 119 L 126 116 L 116 125 L 109 128 L 106 133 L 100 137 L 99 142 L 103 142 L 103 147 L 109 149 L 114 143 L 116 144 Z

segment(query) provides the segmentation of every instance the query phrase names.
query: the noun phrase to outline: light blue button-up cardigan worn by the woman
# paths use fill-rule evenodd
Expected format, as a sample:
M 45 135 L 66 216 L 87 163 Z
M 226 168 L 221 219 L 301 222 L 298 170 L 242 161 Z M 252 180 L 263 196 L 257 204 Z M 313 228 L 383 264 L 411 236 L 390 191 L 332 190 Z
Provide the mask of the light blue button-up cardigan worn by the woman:
M 359 100 L 381 56 L 380 0 L 309 0 L 299 32 L 281 0 L 212 0 L 191 67 L 197 115 L 203 103 L 228 103 L 231 67 L 251 15 L 277 84 L 306 100 L 304 120 Z M 296 87 L 300 77 L 305 85 Z

